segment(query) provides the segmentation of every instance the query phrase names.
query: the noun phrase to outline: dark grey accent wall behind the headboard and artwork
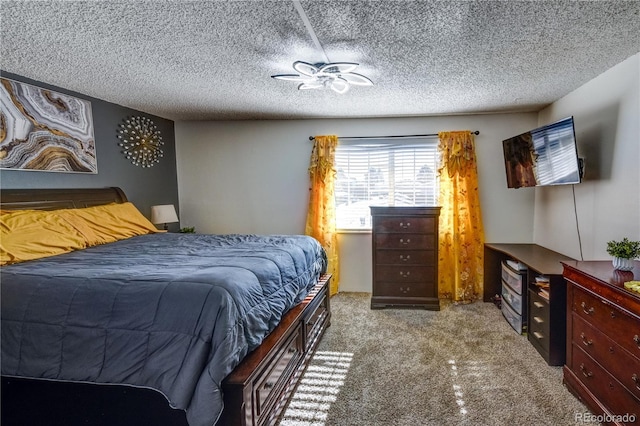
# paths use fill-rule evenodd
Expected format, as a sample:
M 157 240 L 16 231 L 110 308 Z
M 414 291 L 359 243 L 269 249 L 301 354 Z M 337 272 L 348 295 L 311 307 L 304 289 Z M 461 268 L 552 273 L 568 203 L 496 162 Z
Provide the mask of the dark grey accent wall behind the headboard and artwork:
M 178 211 L 173 121 L 12 73 L 0 71 L 0 75 L 4 78 L 90 101 L 98 163 L 97 174 L 0 170 L 0 186 L 2 188 L 102 188 L 117 186 L 122 188 L 129 201 L 135 204 L 148 218 L 151 215 L 151 206 L 156 204 L 173 204 Z M 126 90 L 126 87 L 123 87 L 122 90 Z M 153 167 L 134 166 L 122 155 L 122 148 L 118 146 L 118 125 L 125 118 L 133 115 L 151 119 L 162 135 L 164 156 L 160 159 L 160 163 Z M 178 216 L 179 214 L 178 211 Z M 174 231 L 178 227 L 176 223 L 170 225 L 169 229 Z

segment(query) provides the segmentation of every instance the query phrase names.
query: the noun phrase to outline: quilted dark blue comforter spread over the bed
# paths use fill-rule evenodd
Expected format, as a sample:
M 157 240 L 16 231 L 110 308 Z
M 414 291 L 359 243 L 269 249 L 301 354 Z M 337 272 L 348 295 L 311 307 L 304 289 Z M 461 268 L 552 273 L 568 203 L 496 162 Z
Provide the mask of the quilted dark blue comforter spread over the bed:
M 210 426 L 222 379 L 325 267 L 310 237 L 199 234 L 6 266 L 2 374 L 149 387 Z

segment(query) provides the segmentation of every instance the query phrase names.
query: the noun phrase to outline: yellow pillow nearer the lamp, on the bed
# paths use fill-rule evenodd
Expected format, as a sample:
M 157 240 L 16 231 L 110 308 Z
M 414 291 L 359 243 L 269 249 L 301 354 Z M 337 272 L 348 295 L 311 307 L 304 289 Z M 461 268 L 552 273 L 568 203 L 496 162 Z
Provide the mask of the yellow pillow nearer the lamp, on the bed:
M 64 209 L 58 214 L 85 236 L 88 246 L 160 232 L 131 203 Z

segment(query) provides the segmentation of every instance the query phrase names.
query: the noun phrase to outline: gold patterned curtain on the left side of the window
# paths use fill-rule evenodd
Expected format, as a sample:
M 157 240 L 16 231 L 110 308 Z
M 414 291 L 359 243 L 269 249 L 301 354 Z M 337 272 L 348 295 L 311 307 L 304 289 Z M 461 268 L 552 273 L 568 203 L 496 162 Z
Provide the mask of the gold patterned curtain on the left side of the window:
M 338 234 L 336 233 L 335 157 L 338 137 L 316 136 L 309 165 L 309 211 L 305 233 L 317 239 L 327 252 L 327 273 L 333 275 L 330 294 L 338 292 L 340 265 L 338 263 Z

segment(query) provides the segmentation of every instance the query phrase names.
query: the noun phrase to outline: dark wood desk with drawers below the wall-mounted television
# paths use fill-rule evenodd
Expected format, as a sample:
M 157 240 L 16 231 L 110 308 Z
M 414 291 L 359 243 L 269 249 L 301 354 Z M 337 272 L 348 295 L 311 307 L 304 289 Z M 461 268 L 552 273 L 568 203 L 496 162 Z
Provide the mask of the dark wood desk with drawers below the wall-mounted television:
M 537 244 L 487 243 L 484 245 L 485 302 L 492 302 L 496 295 L 502 295 L 503 265 L 507 260 L 526 266 L 526 270 L 521 271 L 522 292 L 526 292 L 523 300 L 527 301 L 527 317 L 522 318 L 522 322 L 526 320 L 529 342 L 547 364 L 563 365 L 567 293 L 561 262 L 574 259 Z

